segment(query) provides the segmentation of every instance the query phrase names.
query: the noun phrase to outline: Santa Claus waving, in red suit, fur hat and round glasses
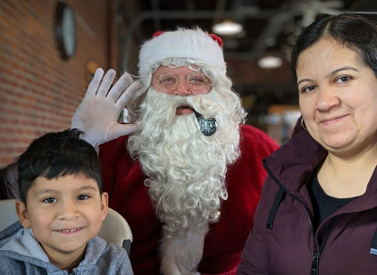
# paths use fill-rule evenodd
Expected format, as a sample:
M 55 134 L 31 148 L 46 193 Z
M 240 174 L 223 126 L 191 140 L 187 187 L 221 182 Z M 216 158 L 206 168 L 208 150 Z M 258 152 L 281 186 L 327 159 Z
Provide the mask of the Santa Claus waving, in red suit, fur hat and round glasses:
M 109 207 L 132 230 L 134 273 L 236 274 L 262 158 L 278 146 L 244 125 L 221 39 L 200 29 L 158 33 L 141 47 L 138 82 L 126 73 L 109 91 L 115 71 L 98 88 L 102 76 L 98 69 L 72 127 L 100 149 Z M 131 123 L 118 124 L 125 105 Z

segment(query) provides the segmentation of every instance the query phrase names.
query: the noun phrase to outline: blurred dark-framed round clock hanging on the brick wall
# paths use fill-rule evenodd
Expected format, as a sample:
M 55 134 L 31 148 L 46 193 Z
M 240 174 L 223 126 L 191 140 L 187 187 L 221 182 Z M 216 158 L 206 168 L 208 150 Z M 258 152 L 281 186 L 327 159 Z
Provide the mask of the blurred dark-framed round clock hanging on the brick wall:
M 75 54 L 76 49 L 76 21 L 73 9 L 64 2 L 57 6 L 55 37 L 63 60 Z

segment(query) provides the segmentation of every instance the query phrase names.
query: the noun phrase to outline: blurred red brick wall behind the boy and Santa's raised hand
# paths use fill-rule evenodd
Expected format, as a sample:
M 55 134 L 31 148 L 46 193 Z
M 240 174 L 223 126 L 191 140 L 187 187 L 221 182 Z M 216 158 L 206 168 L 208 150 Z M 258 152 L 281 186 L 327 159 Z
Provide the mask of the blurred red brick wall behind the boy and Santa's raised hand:
M 0 167 L 16 161 L 33 139 L 70 127 L 87 88 L 88 61 L 105 71 L 118 68 L 116 26 L 109 20 L 116 1 L 66 1 L 80 20 L 76 52 L 67 61 L 54 36 L 57 3 L 0 1 Z

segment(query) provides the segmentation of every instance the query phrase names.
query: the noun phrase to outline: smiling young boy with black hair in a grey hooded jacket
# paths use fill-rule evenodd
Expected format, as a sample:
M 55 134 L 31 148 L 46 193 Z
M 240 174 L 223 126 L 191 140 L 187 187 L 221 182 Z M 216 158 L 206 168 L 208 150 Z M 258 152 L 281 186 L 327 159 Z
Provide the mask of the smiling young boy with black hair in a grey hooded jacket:
M 133 275 L 126 250 L 96 236 L 108 195 L 82 134 L 46 134 L 18 159 L 20 221 L 0 233 L 0 274 Z

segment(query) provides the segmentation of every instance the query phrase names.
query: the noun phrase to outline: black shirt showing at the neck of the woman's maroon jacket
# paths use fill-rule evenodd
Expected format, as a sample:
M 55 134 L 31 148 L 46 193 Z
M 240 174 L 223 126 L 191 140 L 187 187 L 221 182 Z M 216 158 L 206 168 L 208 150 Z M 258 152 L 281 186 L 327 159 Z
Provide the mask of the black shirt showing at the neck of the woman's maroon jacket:
M 323 191 L 319 185 L 317 171 L 314 171 L 309 182 L 309 195 L 313 204 L 314 218 L 313 227 L 314 231 L 318 228 L 319 224 L 331 214 L 335 213 L 338 209 L 342 208 L 348 202 L 353 201 L 358 197 L 352 198 L 334 198 Z

